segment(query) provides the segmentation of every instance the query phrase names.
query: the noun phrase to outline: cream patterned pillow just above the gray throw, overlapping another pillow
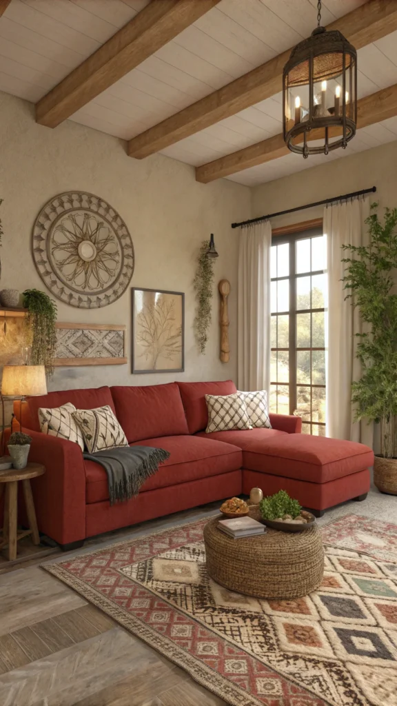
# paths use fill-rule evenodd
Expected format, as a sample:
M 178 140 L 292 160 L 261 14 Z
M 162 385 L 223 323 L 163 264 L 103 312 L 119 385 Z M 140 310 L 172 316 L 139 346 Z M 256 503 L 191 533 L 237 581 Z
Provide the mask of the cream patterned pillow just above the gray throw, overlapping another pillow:
M 85 445 L 90 453 L 128 446 L 126 435 L 109 405 L 97 409 L 76 409 L 73 419 L 83 432 Z

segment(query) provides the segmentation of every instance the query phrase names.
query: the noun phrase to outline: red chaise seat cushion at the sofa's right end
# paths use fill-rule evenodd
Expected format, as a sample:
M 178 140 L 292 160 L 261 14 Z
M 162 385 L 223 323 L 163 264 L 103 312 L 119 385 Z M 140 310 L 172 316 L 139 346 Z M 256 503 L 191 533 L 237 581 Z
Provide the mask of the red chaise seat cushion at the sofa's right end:
M 307 434 L 256 441 L 243 452 L 244 468 L 312 483 L 362 471 L 373 462 L 372 449 L 362 443 Z

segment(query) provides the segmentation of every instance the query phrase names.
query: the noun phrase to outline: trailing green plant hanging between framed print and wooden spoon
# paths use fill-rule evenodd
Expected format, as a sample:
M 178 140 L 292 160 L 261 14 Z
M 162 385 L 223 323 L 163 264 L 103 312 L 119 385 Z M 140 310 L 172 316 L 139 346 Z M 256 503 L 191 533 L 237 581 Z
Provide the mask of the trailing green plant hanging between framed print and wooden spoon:
M 194 277 L 194 289 L 196 289 L 197 310 L 194 319 L 194 328 L 198 347 L 201 353 L 206 352 L 208 341 L 208 328 L 211 324 L 211 310 L 213 298 L 213 259 L 208 258 L 208 241 L 201 244 L 197 258 L 197 269 Z

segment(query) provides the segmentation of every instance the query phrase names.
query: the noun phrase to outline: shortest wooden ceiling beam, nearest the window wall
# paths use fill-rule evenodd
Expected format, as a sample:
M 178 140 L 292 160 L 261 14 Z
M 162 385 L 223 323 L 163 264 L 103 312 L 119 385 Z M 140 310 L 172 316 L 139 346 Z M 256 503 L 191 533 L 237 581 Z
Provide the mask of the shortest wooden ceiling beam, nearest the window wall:
M 365 128 L 395 115 L 397 115 L 397 83 L 357 101 L 357 128 Z M 322 134 L 322 131 L 313 130 L 309 133 L 308 139 L 318 140 Z M 330 131 L 331 136 L 338 134 L 340 134 L 339 129 Z M 290 150 L 285 146 L 283 135 L 275 135 L 268 140 L 246 147 L 244 150 L 232 152 L 231 155 L 196 167 L 196 181 L 208 184 L 209 181 L 229 177 L 230 174 L 242 172 L 242 169 L 256 167 L 258 164 L 277 160 L 278 157 L 290 154 Z

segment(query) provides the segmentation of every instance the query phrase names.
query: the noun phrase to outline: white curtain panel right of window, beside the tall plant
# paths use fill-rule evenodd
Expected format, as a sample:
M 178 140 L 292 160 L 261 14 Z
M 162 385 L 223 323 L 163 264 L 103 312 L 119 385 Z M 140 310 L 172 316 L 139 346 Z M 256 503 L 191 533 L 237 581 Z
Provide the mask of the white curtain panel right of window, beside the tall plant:
M 333 438 L 362 441 L 372 446 L 372 425 L 354 423 L 351 402 L 352 381 L 358 380 L 361 364 L 355 357 L 355 333 L 362 331 L 360 314 L 345 299 L 348 292 L 341 282 L 345 274 L 342 245 L 365 245 L 369 199 L 355 198 L 324 208 L 324 234 L 327 240 L 328 325 L 326 325 L 326 434 Z

